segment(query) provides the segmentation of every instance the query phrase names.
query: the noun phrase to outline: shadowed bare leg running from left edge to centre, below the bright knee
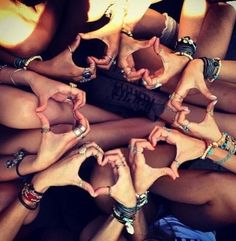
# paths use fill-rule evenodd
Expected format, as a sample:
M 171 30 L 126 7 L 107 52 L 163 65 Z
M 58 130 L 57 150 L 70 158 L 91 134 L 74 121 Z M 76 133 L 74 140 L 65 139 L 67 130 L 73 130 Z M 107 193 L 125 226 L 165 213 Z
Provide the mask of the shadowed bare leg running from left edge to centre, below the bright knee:
M 78 145 L 94 141 L 104 150 L 120 147 L 127 145 L 132 137 L 144 138 L 148 136 L 158 123 L 163 124 L 145 118 L 130 118 L 92 124 L 90 132 L 78 142 Z M 62 133 L 70 131 L 72 125 L 61 124 L 52 126 L 51 129 L 55 133 Z M 1 130 L 0 153 L 2 155 L 13 154 L 22 148 L 29 153 L 37 153 L 42 135 L 40 129 L 16 130 L 2 128 Z

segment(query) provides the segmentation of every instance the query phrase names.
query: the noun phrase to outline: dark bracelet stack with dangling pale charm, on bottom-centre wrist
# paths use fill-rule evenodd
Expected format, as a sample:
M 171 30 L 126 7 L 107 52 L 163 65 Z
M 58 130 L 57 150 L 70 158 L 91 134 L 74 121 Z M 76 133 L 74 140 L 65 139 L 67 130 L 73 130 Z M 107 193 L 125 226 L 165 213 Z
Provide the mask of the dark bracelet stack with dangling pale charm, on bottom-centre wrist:
M 125 225 L 126 231 L 129 234 L 134 234 L 134 215 L 136 214 L 137 208 L 136 206 L 132 208 L 125 207 L 123 204 L 115 202 L 112 215 L 116 218 L 120 223 Z

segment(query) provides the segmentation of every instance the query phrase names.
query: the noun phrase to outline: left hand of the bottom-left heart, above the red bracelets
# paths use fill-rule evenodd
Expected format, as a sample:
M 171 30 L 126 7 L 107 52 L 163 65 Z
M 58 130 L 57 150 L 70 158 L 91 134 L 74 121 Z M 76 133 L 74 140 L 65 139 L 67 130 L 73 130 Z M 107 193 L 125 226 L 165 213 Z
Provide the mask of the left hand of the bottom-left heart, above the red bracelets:
M 96 195 L 91 184 L 82 180 L 79 176 L 81 165 L 91 156 L 96 157 L 100 161 L 103 157 L 101 148 L 94 142 L 84 144 L 74 155 L 65 157 L 48 169 L 36 174 L 32 181 L 35 190 L 41 192 L 50 186 L 75 185 L 87 191 L 92 197 L 95 197 Z

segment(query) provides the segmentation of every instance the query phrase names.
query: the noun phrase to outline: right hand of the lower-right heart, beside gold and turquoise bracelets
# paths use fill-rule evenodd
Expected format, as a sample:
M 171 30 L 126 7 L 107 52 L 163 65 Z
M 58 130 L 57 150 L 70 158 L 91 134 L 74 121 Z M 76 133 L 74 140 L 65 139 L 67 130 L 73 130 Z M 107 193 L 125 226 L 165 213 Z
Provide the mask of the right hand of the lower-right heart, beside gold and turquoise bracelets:
M 176 146 L 175 160 L 171 164 L 171 169 L 176 177 L 179 177 L 178 168 L 182 163 L 201 157 L 206 148 L 202 140 L 160 126 L 153 129 L 148 139 L 153 146 L 156 146 L 158 141 L 166 141 Z

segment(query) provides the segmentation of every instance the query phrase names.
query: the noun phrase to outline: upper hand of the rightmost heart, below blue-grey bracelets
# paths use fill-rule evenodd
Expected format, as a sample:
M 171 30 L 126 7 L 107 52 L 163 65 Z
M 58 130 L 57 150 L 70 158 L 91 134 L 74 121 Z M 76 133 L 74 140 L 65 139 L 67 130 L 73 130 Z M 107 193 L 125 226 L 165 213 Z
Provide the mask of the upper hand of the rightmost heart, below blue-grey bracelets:
M 187 107 L 182 106 L 182 102 L 191 89 L 198 89 L 209 100 L 217 99 L 207 88 L 203 76 L 203 61 L 200 59 L 189 62 L 168 102 L 168 106 L 175 111 L 186 110 Z

